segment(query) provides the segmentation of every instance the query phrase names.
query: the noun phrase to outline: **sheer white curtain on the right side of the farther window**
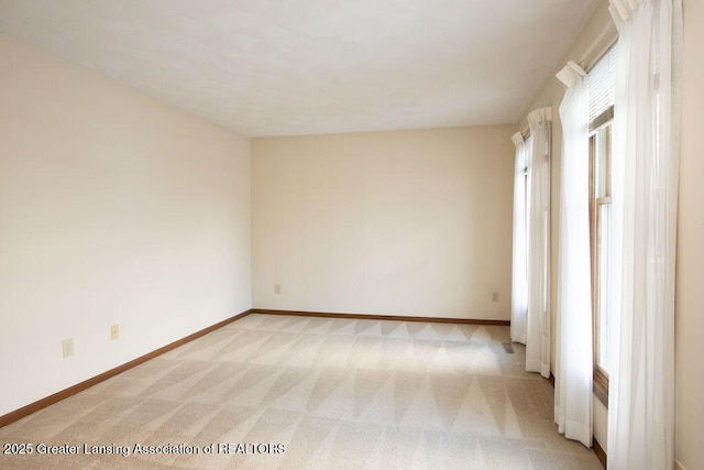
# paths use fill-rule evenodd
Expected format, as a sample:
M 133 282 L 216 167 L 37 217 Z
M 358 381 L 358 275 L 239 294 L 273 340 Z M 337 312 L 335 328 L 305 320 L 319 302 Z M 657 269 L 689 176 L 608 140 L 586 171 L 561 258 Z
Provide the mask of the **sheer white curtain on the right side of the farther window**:
M 550 124 L 552 108 L 528 114 L 528 316 L 526 370 L 550 376 Z

